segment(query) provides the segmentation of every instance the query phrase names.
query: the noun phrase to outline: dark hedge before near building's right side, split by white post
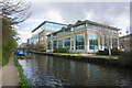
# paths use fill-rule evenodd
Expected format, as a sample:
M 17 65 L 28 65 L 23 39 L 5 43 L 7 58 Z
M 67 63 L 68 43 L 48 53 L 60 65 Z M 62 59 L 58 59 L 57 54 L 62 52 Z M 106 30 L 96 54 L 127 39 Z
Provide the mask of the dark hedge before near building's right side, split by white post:
M 98 54 L 98 55 L 109 55 L 109 50 L 98 51 L 96 54 Z M 119 54 L 120 54 L 120 51 L 118 51 L 117 48 L 111 50 L 111 55 L 119 55 Z

